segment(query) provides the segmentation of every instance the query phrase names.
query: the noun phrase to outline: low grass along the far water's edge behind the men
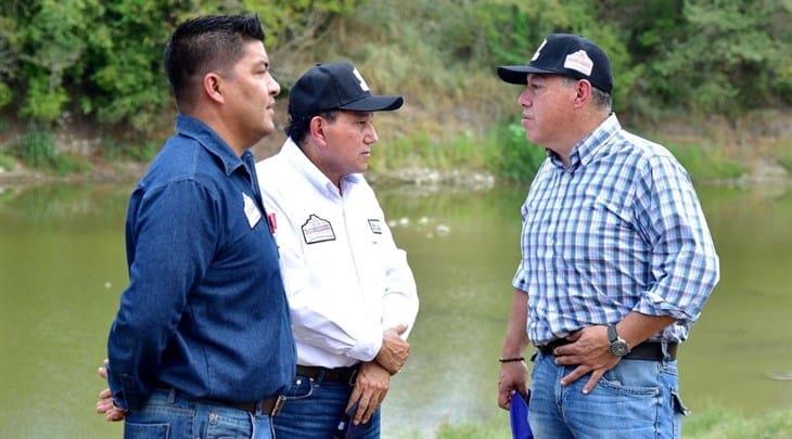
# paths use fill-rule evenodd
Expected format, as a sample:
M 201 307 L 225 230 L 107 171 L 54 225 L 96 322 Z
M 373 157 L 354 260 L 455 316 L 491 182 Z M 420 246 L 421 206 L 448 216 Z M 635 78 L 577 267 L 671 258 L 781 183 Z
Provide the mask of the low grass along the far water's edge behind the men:
M 707 144 L 706 139 L 665 141 L 665 145 L 697 182 L 734 180 L 751 172 L 749 160 L 729 155 L 725 149 Z M 101 155 L 59 147 L 51 132 L 40 129 L 21 134 L 0 149 L 0 168 L 5 172 L 35 172 L 50 176 L 98 173 L 114 164 L 148 164 L 158 152 L 161 141 L 142 140 L 139 145 L 112 143 Z M 259 154 L 261 155 L 261 154 Z M 264 154 L 267 155 L 267 154 Z M 792 143 L 769 153 L 770 160 L 792 172 Z M 371 172 L 399 173 L 404 169 L 432 169 L 439 172 L 486 172 L 500 180 L 527 182 L 546 157 L 541 146 L 525 139 L 515 122 L 495 122 L 483 131 L 461 130 L 446 133 L 414 130 L 381 137 L 371 162 Z M 20 166 L 21 165 L 21 166 Z M 130 168 L 136 170 L 138 168 Z M 137 176 L 129 176 L 133 179 Z

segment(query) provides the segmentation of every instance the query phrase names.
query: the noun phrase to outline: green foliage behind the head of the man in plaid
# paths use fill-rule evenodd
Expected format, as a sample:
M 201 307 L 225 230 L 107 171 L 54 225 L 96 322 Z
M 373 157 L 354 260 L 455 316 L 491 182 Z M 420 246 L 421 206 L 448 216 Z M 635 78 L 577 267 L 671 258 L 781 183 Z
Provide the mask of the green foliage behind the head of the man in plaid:
M 524 63 L 546 34 L 591 38 L 611 57 L 615 101 L 649 116 L 656 108 L 730 113 L 792 103 L 790 1 L 426 3 L 434 4 L 433 41 L 458 61 Z

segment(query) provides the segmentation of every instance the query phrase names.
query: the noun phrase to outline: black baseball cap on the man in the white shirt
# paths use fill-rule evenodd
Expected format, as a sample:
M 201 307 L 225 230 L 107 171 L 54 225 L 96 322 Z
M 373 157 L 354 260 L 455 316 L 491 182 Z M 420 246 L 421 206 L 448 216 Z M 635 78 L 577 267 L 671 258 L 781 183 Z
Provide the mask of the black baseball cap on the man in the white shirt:
M 298 118 L 332 109 L 389 112 L 404 102 L 401 96 L 371 94 L 360 72 L 349 63 L 317 64 L 289 92 L 289 115 Z

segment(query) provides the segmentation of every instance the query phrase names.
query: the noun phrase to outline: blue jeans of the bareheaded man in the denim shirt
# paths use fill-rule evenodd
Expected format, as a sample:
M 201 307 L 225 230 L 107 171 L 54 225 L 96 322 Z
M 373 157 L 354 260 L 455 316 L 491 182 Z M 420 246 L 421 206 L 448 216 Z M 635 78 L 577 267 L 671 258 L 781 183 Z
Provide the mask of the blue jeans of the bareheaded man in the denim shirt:
M 124 423 L 124 438 L 254 438 L 271 439 L 272 425 L 265 413 L 251 413 L 181 395 L 154 390 Z

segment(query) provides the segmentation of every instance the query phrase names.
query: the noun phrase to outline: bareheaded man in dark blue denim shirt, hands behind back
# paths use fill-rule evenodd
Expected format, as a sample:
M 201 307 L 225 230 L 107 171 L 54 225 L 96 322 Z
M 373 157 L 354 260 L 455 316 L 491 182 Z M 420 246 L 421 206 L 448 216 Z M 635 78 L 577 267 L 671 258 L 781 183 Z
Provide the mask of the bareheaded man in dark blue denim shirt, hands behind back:
M 179 26 L 177 133 L 132 192 L 129 286 L 107 341 L 125 437 L 271 437 L 295 369 L 278 249 L 247 151 L 274 129 L 258 17 Z M 105 408 L 107 409 L 107 408 Z M 164 437 L 164 436 L 163 436 Z

